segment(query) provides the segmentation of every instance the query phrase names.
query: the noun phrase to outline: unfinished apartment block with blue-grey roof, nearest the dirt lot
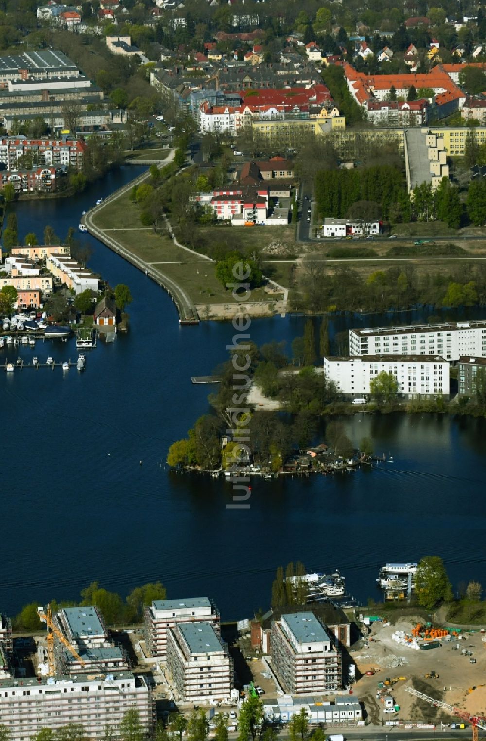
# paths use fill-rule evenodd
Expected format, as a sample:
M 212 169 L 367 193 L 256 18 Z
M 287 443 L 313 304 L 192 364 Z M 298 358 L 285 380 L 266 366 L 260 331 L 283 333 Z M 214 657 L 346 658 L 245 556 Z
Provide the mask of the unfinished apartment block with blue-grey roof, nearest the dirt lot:
M 312 612 L 282 615 L 272 624 L 272 668 L 288 694 L 342 688 L 341 653 Z

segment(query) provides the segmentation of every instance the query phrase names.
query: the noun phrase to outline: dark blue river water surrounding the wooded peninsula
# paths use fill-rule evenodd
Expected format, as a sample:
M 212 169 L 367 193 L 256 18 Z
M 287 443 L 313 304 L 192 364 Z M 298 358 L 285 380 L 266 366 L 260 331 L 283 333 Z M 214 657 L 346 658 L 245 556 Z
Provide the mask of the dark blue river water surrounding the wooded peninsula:
M 96 198 L 138 173 L 122 168 L 70 201 L 17 205 L 21 236 L 40 238 L 46 224 L 64 236 Z M 363 601 L 378 597 L 382 563 L 427 554 L 444 557 L 455 584 L 484 582 L 485 422 L 357 414 L 346 422 L 355 444 L 369 433 L 375 451 L 393 453 L 393 465 L 255 481 L 249 511 L 231 511 L 231 485 L 165 466 L 168 445 L 208 410 L 208 388 L 191 385 L 190 376 L 226 359 L 231 325 L 180 328 L 160 287 L 90 236 L 81 239 L 93 246 L 93 270 L 130 286 L 131 332 L 99 343 L 82 375 L 45 368 L 0 375 L 2 611 L 76 598 L 95 579 L 122 594 L 160 579 L 169 597 L 207 594 L 223 619 L 247 617 L 269 605 L 275 569 L 290 560 L 341 568 Z M 356 323 L 339 319 L 332 330 Z M 250 332 L 257 344 L 289 347 L 303 319 L 255 320 Z M 72 341 L 8 352 L 77 356 Z

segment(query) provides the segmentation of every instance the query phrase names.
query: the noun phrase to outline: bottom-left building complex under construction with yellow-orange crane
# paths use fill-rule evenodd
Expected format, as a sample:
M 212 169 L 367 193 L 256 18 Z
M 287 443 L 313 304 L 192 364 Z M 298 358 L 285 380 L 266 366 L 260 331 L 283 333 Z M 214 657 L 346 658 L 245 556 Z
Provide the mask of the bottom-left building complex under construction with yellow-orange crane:
M 111 637 L 96 607 L 38 609 L 43 637 L 1 636 L 0 723 L 11 741 L 22 741 L 70 722 L 99 737 L 110 723 L 114 737 L 130 709 L 145 731 L 154 722 L 151 689 L 131 671 L 128 652 Z

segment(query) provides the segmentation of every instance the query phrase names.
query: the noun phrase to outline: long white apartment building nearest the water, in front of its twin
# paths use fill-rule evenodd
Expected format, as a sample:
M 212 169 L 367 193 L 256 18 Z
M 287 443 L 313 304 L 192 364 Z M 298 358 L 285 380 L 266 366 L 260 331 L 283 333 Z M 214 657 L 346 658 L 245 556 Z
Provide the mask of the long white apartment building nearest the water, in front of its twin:
M 352 396 L 371 393 L 372 379 L 390 373 L 398 394 L 408 399 L 449 396 L 449 363 L 439 355 L 359 355 L 324 358 L 324 375 L 338 391 Z

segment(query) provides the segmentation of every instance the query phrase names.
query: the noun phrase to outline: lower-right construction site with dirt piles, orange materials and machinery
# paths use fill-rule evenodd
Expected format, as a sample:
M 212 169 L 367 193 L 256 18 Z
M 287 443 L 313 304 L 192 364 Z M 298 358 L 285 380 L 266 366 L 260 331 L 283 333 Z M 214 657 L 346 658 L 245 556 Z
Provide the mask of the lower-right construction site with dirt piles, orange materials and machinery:
M 420 723 L 482 728 L 486 708 L 486 634 L 375 620 L 351 651 L 357 681 L 353 692 L 376 725 Z M 486 722 L 484 722 L 486 729 Z

